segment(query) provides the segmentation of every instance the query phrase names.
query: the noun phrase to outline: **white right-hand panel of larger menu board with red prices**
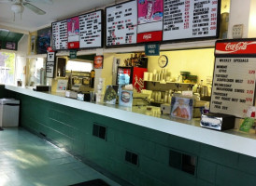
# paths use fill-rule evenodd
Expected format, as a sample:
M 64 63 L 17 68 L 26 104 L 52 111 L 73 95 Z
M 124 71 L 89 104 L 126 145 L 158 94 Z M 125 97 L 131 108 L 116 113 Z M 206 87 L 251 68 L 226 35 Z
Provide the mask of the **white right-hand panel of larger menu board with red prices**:
M 219 0 L 164 0 L 163 41 L 218 34 Z

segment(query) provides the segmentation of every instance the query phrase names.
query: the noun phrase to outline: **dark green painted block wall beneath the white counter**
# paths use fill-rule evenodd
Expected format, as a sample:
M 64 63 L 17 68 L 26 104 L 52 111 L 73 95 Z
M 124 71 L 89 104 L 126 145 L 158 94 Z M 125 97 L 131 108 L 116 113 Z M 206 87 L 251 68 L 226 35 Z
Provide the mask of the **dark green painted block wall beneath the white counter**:
M 256 184 L 256 158 L 14 92 L 8 95 L 21 100 L 21 126 L 136 186 Z M 93 122 L 107 126 L 107 140 L 92 136 Z M 139 155 L 138 166 L 124 161 L 126 150 Z M 196 155 L 196 175 L 168 166 L 170 150 Z

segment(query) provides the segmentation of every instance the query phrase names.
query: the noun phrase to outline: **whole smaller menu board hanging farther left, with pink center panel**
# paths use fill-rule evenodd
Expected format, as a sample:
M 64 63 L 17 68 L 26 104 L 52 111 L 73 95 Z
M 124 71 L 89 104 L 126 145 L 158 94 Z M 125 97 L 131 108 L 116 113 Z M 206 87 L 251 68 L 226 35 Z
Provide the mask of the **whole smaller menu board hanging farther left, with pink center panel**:
M 102 47 L 103 28 L 102 9 L 52 22 L 52 47 L 54 50 Z

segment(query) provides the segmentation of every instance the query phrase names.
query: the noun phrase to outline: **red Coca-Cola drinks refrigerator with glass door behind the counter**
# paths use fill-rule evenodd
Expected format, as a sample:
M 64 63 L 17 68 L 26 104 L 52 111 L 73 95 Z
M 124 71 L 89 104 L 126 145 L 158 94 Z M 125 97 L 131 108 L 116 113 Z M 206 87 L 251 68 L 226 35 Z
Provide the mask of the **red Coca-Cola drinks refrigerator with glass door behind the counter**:
M 137 92 L 145 89 L 146 84 L 143 81 L 144 72 L 148 72 L 147 68 L 141 67 L 118 67 L 117 70 L 117 85 L 123 86 L 133 84 Z

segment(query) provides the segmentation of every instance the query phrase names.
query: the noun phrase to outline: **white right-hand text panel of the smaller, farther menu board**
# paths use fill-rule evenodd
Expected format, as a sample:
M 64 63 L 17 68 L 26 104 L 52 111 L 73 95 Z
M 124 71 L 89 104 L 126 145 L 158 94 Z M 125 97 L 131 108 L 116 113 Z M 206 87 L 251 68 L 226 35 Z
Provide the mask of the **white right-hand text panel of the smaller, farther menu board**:
M 102 11 L 79 16 L 80 47 L 102 46 Z

